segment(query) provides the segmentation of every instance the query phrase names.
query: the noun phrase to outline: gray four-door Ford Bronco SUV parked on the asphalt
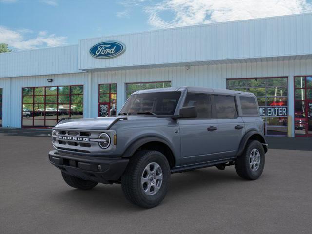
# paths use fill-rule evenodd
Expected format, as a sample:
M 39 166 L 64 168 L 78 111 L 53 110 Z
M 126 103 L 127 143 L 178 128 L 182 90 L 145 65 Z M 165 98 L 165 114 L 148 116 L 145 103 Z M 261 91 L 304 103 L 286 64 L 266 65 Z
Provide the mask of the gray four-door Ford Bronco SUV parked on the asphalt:
M 163 200 L 172 173 L 235 165 L 240 177 L 257 179 L 268 151 L 263 129 L 252 93 L 142 90 L 117 116 L 61 120 L 49 160 L 74 188 L 121 183 L 130 202 L 151 208 Z

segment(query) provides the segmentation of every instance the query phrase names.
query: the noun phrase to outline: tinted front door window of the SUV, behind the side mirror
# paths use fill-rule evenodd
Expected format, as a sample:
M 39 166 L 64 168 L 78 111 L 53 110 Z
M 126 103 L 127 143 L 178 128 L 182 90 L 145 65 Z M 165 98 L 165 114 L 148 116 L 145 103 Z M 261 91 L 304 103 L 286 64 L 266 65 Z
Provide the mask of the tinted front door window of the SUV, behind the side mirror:
M 187 94 L 183 106 L 195 106 L 197 118 L 212 118 L 210 95 Z

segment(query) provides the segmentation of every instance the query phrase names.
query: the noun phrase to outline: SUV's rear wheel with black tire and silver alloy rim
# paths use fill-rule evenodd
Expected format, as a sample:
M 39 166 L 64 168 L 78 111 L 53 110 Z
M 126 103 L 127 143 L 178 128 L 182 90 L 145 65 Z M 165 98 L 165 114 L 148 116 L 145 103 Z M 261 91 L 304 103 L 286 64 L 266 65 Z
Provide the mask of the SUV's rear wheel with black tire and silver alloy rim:
M 241 156 L 235 161 L 238 176 L 254 180 L 261 176 L 264 169 L 265 153 L 262 144 L 257 140 L 249 140 Z

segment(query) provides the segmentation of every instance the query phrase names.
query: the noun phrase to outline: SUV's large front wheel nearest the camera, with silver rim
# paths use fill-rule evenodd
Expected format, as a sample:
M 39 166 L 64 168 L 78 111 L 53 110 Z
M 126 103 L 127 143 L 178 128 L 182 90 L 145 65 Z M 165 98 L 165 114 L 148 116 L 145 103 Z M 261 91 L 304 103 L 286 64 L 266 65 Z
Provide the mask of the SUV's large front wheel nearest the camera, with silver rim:
M 126 198 L 144 208 L 157 206 L 165 197 L 170 179 L 167 158 L 154 150 L 140 150 L 131 157 L 121 176 Z

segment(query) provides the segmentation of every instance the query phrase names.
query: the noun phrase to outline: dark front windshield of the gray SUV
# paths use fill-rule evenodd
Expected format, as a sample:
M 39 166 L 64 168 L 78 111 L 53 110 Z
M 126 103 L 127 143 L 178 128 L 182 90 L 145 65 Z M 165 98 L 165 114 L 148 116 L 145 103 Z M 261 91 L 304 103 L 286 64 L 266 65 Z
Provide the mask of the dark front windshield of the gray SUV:
M 125 115 L 173 115 L 181 92 L 158 92 L 130 96 L 120 111 Z

